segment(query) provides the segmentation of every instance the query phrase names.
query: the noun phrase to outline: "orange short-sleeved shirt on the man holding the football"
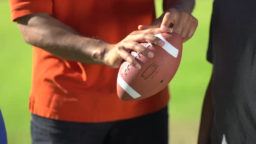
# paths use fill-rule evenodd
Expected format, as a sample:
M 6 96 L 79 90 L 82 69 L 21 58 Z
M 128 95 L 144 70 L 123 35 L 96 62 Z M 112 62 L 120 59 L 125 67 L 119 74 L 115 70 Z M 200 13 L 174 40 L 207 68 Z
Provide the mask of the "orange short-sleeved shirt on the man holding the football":
M 118 43 L 139 24 L 155 19 L 154 0 L 10 0 L 12 20 L 50 13 L 84 36 Z M 65 40 L 65 39 L 63 39 Z M 46 118 L 78 122 L 116 121 L 167 106 L 168 88 L 140 101 L 121 101 L 118 69 L 72 62 L 33 47 L 29 109 Z

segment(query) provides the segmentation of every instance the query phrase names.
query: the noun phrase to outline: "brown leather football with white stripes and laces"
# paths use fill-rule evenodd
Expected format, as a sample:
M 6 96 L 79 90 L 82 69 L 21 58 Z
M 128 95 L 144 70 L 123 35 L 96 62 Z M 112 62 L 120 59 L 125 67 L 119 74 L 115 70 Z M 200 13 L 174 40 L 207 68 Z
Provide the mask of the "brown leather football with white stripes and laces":
M 177 33 L 159 33 L 163 47 L 141 43 L 154 53 L 153 58 L 131 52 L 141 65 L 135 69 L 128 62 L 120 66 L 117 78 L 118 97 L 124 101 L 148 98 L 164 89 L 173 79 L 181 62 L 182 39 Z

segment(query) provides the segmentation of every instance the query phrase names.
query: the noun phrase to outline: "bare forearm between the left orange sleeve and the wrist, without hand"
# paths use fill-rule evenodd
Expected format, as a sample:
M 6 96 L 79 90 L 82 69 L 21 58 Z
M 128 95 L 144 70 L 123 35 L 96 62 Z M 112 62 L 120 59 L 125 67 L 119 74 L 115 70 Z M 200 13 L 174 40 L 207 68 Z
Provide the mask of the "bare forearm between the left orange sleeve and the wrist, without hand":
M 46 14 L 28 17 L 18 26 L 24 40 L 53 55 L 72 61 L 104 64 L 110 44 L 81 36 L 74 29 Z

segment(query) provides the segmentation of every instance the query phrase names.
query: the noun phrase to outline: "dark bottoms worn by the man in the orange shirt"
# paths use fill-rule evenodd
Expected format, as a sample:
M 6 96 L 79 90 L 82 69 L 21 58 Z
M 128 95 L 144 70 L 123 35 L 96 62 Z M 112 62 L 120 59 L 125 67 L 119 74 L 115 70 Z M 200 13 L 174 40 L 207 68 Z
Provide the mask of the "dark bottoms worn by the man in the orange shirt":
M 137 118 L 79 123 L 32 114 L 32 144 L 167 144 L 167 107 Z

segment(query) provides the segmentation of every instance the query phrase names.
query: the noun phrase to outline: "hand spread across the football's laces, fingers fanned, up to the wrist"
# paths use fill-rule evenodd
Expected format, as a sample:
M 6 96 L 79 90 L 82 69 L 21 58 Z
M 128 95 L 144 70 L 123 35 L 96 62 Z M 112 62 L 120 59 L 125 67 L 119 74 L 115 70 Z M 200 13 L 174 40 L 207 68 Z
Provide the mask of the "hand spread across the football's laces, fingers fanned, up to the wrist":
M 171 31 L 171 29 L 165 29 L 165 31 Z M 112 68 L 120 67 L 123 60 L 129 62 L 136 69 L 140 69 L 141 65 L 131 55 L 130 51 L 134 50 L 152 58 L 154 53 L 149 49 L 145 48 L 139 42 L 149 42 L 157 46 L 164 46 L 164 41 L 154 36 L 154 34 L 162 33 L 160 28 L 145 29 L 132 32 L 121 42 L 112 45 L 105 54 L 105 65 L 111 66 Z

